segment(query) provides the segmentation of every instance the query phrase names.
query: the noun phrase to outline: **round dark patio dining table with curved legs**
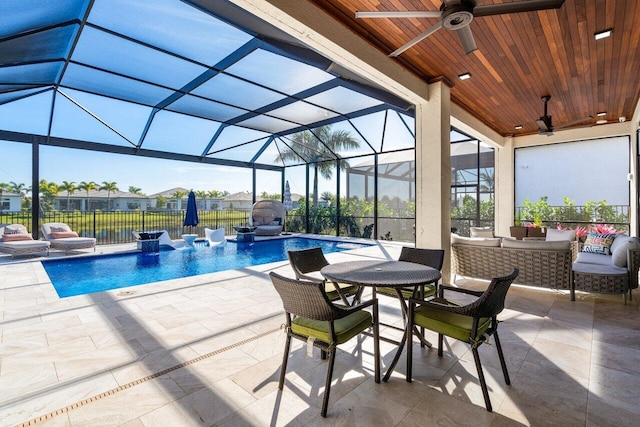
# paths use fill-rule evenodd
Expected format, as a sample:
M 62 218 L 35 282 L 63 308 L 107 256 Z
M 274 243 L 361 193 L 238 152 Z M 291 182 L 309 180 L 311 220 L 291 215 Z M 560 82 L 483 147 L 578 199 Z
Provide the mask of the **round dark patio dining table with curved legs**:
M 417 296 L 417 291 L 421 285 L 433 283 L 441 277 L 439 270 L 426 265 L 406 261 L 387 260 L 340 262 L 323 267 L 320 270 L 320 273 L 326 279 L 333 282 L 370 287 L 373 298 L 376 297 L 377 287 L 384 286 L 387 288 L 394 288 L 398 294 L 400 308 L 404 314 L 405 321 L 407 315 L 407 302 L 402 294 L 402 288 L 413 287 L 414 296 Z M 417 336 L 424 341 L 421 334 L 417 334 Z M 400 359 L 406 340 L 407 333 L 405 331 L 401 341 L 397 343 L 398 349 L 396 351 L 396 355 L 389 366 L 389 369 L 385 373 L 383 381 L 386 382 L 389 380 L 395 365 Z M 431 346 L 426 341 L 424 342 Z

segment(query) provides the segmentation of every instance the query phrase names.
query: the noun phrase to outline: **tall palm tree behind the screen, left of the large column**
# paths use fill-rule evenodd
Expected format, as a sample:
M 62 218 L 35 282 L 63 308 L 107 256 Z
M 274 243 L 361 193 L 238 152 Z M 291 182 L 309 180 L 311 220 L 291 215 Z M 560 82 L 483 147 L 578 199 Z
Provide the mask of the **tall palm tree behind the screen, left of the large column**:
M 336 153 L 343 150 L 360 148 L 360 142 L 346 130 L 332 131 L 331 126 L 320 126 L 310 131 L 296 133 L 292 136 L 293 147 L 283 149 L 276 157 L 277 162 L 299 161 L 303 158 L 313 163 L 313 204 L 318 204 L 318 173 L 325 179 L 331 179 L 335 162 L 327 162 Z M 340 162 L 340 170 L 349 167 L 346 161 Z

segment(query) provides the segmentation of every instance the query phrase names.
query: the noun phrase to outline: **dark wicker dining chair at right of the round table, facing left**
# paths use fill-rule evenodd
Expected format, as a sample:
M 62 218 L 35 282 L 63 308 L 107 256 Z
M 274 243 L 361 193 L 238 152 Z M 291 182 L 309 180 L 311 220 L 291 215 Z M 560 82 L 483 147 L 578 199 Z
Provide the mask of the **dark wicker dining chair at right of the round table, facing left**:
M 473 359 L 478 370 L 478 379 L 482 387 L 484 403 L 487 411 L 491 412 L 491 400 L 487 390 L 487 383 L 484 379 L 482 365 L 480 363 L 480 354 L 478 347 L 487 342 L 489 337 L 493 335 L 495 338 L 502 373 L 507 385 L 511 384 L 507 364 L 502 353 L 502 346 L 498 338 L 498 320 L 497 315 L 504 309 L 504 301 L 507 291 L 511 283 L 518 276 L 518 269 L 514 268 L 509 275 L 497 277 L 491 280 L 491 283 L 485 291 L 474 291 L 464 288 L 454 288 L 452 286 L 440 285 L 439 298 L 430 301 L 410 299 L 409 300 L 409 321 L 407 322 L 407 331 L 410 334 L 407 343 L 407 382 L 411 382 L 412 377 L 412 339 L 413 326 L 419 325 L 426 329 L 438 333 L 438 356 L 442 357 L 443 336 L 464 341 L 471 345 Z M 469 295 L 477 296 L 474 302 L 467 305 L 444 298 L 444 290 L 461 292 Z

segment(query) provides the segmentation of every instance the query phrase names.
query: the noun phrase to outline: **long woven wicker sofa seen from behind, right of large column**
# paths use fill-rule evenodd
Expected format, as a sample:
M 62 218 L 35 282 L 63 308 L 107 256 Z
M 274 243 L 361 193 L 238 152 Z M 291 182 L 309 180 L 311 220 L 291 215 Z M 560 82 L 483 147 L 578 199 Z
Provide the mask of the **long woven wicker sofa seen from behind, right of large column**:
M 508 238 L 465 238 L 452 235 L 451 254 L 456 276 L 491 280 L 520 270 L 514 283 L 571 289 L 571 265 L 577 242 L 526 241 Z

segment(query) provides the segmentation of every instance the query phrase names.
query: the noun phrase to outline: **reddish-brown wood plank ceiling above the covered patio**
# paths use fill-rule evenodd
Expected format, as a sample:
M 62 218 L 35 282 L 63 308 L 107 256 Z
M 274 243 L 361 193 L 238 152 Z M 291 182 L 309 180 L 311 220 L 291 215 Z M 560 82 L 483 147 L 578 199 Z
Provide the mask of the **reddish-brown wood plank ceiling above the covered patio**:
M 311 2 L 386 54 L 438 19 L 355 19 L 356 11 L 437 11 L 441 5 L 441 0 Z M 453 102 L 504 136 L 537 132 L 543 95 L 551 95 L 554 126 L 587 116 L 594 118 L 582 126 L 596 119 L 631 119 L 640 97 L 639 1 L 566 0 L 560 9 L 477 17 L 470 26 L 478 49 L 468 55 L 454 32 L 440 29 L 394 60 L 426 81 L 446 77 L 454 83 Z M 596 41 L 594 33 L 608 28 L 611 37 Z M 461 81 L 463 73 L 472 78 Z M 607 114 L 596 117 L 598 112 Z

